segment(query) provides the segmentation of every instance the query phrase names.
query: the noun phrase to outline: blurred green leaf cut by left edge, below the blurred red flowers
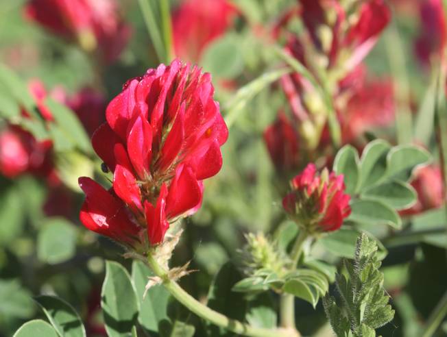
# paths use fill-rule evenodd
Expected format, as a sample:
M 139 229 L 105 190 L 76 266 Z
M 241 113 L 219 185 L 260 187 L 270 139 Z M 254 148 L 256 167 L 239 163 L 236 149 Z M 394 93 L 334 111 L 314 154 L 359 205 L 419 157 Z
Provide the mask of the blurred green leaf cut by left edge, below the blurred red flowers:
M 0 246 L 10 245 L 23 229 L 23 195 L 16 186 L 3 187 L 0 195 Z

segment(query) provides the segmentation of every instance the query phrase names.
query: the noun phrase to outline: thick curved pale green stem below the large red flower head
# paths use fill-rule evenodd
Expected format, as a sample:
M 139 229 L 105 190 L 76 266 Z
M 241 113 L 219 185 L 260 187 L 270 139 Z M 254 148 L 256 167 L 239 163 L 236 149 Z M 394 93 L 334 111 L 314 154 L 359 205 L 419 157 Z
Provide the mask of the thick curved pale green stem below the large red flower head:
M 240 321 L 234 319 L 229 319 L 227 316 L 215 312 L 214 310 L 208 308 L 206 305 L 197 301 L 194 297 L 189 295 L 188 292 L 184 291 L 182 287 L 178 285 L 177 282 L 169 279 L 168 272 L 158 264 L 154 257 L 149 254 L 147 258 L 149 267 L 152 269 L 155 275 L 162 279 L 163 286 L 171 293 L 173 297 L 182 303 L 186 308 L 191 310 L 194 314 L 209 321 L 219 327 L 224 327 L 231 332 L 236 334 L 241 334 L 243 336 L 252 337 L 296 337 L 294 331 L 284 331 L 280 329 L 262 329 L 258 327 L 252 327 Z

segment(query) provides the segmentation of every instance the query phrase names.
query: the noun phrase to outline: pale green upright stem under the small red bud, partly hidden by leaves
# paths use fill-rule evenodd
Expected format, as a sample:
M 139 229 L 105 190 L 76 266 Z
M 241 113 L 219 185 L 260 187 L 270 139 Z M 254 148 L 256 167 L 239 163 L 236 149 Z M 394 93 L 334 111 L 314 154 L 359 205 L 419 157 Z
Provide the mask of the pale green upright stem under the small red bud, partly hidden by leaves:
M 291 271 L 296 269 L 298 260 L 300 260 L 302 252 L 302 244 L 306 240 L 309 234 L 303 229 L 300 230 L 298 238 L 296 238 L 293 244 L 290 257 L 292 259 Z M 295 329 L 295 297 L 291 294 L 282 294 L 280 298 L 280 325 L 286 328 Z

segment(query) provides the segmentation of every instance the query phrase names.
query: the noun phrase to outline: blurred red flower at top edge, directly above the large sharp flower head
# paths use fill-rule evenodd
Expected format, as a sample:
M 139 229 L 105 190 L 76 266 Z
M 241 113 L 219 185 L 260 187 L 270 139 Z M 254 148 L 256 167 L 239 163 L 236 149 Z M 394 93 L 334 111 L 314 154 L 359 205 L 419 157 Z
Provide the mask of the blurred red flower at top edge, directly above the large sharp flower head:
M 227 0 L 185 0 L 173 13 L 176 55 L 197 62 L 206 45 L 226 32 L 237 10 Z

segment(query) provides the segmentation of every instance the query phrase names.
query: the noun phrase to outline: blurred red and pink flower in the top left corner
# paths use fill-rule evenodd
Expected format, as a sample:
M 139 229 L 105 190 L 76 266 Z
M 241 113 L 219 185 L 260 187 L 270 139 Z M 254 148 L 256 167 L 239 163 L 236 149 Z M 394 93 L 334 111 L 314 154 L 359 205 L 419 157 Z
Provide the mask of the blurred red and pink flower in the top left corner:
M 114 0 L 30 0 L 25 14 L 87 51 L 98 48 L 106 62 L 116 59 L 130 38 Z

